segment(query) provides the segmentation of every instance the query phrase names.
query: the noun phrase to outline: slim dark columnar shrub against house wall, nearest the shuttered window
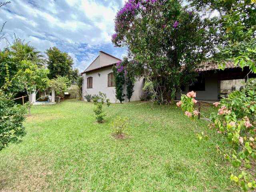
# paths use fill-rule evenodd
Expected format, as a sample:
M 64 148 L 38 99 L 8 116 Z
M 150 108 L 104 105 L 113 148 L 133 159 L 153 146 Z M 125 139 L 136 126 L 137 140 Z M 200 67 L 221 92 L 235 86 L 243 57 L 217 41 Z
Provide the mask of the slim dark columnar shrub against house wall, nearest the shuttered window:
M 124 101 L 124 84 L 125 84 L 125 77 L 124 77 L 124 66 L 122 62 L 118 62 L 116 66 L 113 66 L 113 74 L 115 76 L 115 83 L 116 83 L 116 98 L 122 103 Z

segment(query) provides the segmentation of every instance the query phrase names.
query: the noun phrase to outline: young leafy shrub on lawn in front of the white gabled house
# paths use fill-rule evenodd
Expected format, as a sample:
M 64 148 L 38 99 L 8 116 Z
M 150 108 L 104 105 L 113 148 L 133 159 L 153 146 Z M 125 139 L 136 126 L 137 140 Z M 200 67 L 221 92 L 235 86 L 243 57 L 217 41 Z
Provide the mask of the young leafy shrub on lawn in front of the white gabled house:
M 106 116 L 106 112 L 103 111 L 102 106 L 104 103 L 107 104 L 107 106 L 110 106 L 110 101 L 109 99 L 106 97 L 105 93 L 99 92 L 98 95 L 93 95 L 92 96 L 92 100 L 94 102 L 95 108 L 94 108 L 94 113 L 95 113 L 95 117 L 97 122 L 104 122 L 104 117 Z

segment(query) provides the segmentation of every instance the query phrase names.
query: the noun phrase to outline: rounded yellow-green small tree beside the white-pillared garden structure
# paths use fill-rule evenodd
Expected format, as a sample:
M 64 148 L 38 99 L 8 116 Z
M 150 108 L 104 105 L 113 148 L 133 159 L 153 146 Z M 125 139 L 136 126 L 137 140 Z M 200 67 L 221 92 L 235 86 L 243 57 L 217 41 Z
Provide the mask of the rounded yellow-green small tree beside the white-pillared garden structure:
M 57 76 L 57 78 L 51 79 L 48 82 L 49 88 L 54 88 L 57 96 L 63 96 L 64 92 L 68 90 L 70 81 L 67 77 Z

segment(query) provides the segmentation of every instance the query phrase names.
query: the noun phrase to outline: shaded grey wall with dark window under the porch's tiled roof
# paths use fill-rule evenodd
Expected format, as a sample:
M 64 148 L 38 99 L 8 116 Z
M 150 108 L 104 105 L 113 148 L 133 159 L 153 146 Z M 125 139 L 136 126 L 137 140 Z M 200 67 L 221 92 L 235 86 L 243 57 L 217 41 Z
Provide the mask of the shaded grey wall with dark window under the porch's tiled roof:
M 195 91 L 196 100 L 218 100 L 218 74 L 217 73 L 206 73 L 205 77 L 205 91 Z M 188 86 L 182 94 L 186 94 L 189 91 Z M 176 98 L 180 100 L 181 94 L 177 93 Z

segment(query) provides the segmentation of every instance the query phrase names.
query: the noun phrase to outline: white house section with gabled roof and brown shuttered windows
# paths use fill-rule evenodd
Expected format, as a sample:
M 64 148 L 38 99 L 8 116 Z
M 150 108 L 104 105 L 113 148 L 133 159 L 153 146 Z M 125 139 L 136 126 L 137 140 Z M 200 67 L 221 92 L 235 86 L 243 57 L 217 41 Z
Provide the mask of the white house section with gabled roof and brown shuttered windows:
M 86 94 L 98 94 L 99 92 L 106 93 L 110 102 L 119 102 L 116 99 L 116 88 L 112 67 L 119 62 L 120 59 L 116 58 L 106 52 L 100 51 L 99 56 L 82 72 L 84 77 L 82 92 L 83 96 Z M 144 86 L 144 80 L 142 78 L 137 79 L 134 84 L 134 92 L 130 101 L 140 100 L 142 94 L 142 88 Z M 124 87 L 124 94 L 126 94 L 126 88 Z M 124 102 L 128 102 L 128 98 L 124 97 Z

